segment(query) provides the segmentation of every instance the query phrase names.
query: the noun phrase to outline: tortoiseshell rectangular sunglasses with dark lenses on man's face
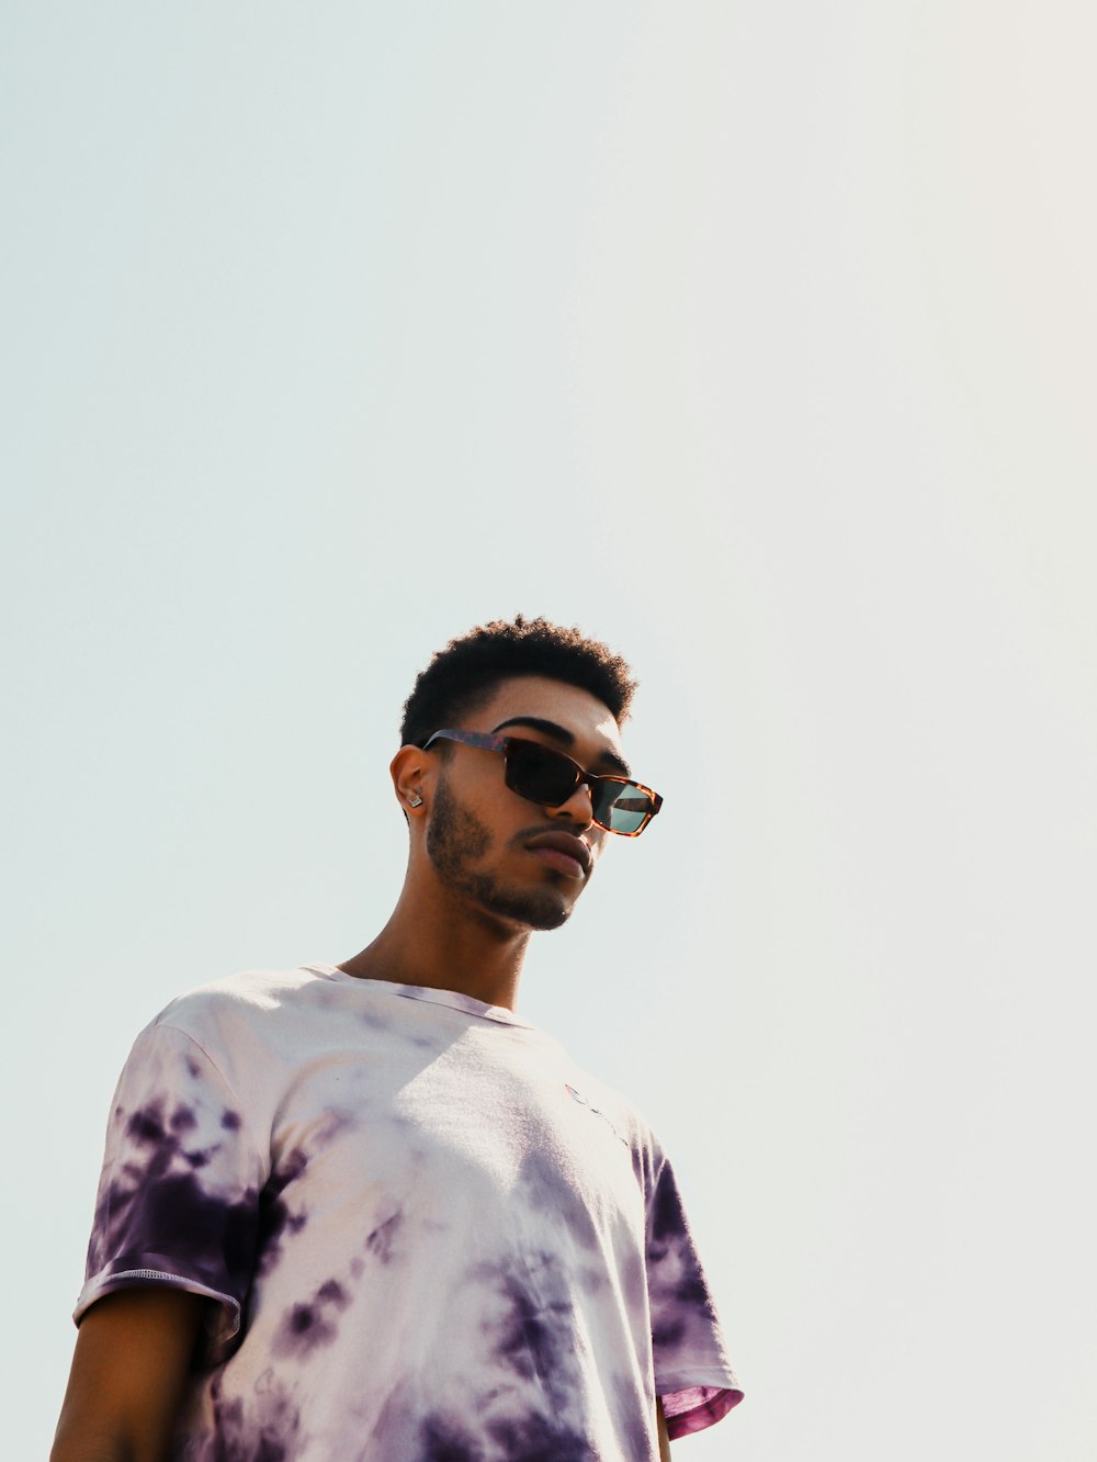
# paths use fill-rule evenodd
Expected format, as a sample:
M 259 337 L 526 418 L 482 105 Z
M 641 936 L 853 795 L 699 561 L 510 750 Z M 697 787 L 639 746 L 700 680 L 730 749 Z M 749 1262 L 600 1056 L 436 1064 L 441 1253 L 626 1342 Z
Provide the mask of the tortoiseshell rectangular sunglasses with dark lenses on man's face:
M 542 807 L 562 807 L 578 787 L 590 791 L 590 816 L 606 832 L 638 838 L 663 806 L 659 792 L 627 776 L 596 776 L 562 751 L 520 735 L 488 735 L 483 731 L 435 731 L 424 741 L 424 751 L 435 741 L 459 741 L 482 751 L 501 751 L 507 762 L 502 779 L 507 787 Z

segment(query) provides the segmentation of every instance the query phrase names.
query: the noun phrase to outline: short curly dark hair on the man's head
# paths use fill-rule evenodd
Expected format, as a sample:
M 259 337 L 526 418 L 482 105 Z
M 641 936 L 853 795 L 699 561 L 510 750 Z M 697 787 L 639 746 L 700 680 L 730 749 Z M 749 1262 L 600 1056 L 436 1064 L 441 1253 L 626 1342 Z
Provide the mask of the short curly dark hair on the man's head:
M 628 664 L 578 629 L 545 618 L 492 620 L 453 639 L 431 659 L 405 702 L 400 746 L 422 746 L 491 699 L 514 675 L 548 675 L 597 696 L 619 724 L 637 683 Z

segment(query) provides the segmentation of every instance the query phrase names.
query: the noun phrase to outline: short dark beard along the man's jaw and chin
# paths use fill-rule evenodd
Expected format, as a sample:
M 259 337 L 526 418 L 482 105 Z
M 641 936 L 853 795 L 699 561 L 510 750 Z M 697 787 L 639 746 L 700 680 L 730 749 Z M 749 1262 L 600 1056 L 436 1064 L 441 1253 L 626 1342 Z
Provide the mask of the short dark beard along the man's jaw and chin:
M 478 904 L 483 912 L 526 928 L 559 928 L 571 917 L 571 901 L 548 885 L 514 887 L 472 864 L 491 849 L 491 830 L 453 795 L 443 773 L 427 826 L 427 857 L 440 882 Z

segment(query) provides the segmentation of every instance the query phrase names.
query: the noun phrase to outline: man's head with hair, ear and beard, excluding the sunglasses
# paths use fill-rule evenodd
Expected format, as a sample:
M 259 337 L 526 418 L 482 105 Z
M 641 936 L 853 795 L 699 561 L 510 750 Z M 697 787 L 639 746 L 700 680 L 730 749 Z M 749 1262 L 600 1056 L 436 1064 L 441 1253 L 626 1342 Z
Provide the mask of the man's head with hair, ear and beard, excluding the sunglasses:
M 634 689 L 624 659 L 545 620 L 497 621 L 453 640 L 416 680 L 391 768 L 412 871 L 507 928 L 562 924 L 606 836 L 589 787 L 540 806 L 507 785 L 500 751 L 453 740 L 424 747 L 441 730 L 519 735 L 584 770 L 628 775 L 619 727 Z

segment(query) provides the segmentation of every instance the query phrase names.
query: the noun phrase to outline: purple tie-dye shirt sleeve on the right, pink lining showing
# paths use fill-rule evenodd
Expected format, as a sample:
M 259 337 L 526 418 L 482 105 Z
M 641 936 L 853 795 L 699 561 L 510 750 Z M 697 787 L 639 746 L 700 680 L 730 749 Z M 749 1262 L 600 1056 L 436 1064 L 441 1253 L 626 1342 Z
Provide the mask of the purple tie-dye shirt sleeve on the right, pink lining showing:
M 726 1417 L 742 1401 L 742 1387 L 666 1158 L 649 1197 L 647 1291 L 656 1395 L 673 1442 Z

